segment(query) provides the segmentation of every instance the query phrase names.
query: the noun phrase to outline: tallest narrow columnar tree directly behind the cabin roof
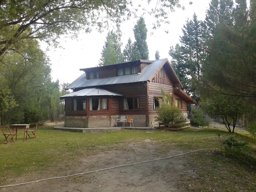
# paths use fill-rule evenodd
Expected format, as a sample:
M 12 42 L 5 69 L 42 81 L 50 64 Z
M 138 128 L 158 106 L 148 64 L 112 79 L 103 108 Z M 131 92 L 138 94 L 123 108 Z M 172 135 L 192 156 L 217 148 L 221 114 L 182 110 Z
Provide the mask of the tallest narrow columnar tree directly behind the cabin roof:
M 143 17 L 140 17 L 136 25 L 133 28 L 135 42 L 133 44 L 133 60 L 148 60 L 149 59 L 149 49 L 147 45 L 147 32 L 148 29 L 145 24 Z M 139 53 L 139 54 L 138 54 Z M 138 56 L 140 57 L 138 58 Z

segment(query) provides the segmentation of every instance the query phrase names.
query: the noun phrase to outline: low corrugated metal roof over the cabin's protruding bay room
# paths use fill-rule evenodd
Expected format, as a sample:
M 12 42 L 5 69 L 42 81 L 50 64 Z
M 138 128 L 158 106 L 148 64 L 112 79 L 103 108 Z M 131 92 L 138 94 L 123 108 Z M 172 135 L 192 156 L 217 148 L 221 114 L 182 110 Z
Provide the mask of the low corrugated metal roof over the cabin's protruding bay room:
M 76 91 L 70 94 L 66 94 L 60 97 L 60 99 L 68 98 L 68 97 L 78 97 L 78 96 L 103 96 L 103 95 L 109 95 L 109 96 L 123 96 L 122 94 L 113 92 L 113 91 L 107 91 L 102 88 L 86 88 L 82 89 L 80 91 Z

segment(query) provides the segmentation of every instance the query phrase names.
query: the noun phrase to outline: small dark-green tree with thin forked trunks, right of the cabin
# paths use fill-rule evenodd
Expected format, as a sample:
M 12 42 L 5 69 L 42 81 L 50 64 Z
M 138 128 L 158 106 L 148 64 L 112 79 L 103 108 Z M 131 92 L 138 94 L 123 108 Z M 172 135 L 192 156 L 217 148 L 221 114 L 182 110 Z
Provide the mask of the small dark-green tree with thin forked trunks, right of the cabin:
M 242 99 L 216 93 L 212 93 L 209 98 L 202 99 L 201 107 L 212 118 L 219 116 L 228 132 L 233 133 L 237 119 L 244 114 Z

